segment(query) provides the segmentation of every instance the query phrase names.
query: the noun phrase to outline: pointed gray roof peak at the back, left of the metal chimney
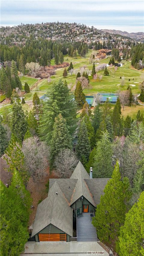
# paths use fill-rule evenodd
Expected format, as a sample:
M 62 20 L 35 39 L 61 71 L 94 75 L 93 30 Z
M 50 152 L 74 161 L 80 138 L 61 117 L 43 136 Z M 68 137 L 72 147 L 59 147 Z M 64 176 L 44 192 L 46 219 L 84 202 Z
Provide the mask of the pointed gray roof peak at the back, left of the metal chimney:
M 76 168 L 74 169 L 70 179 L 79 179 L 79 178 L 90 179 L 87 171 L 85 170 L 85 168 L 83 167 L 80 161 L 76 165 Z

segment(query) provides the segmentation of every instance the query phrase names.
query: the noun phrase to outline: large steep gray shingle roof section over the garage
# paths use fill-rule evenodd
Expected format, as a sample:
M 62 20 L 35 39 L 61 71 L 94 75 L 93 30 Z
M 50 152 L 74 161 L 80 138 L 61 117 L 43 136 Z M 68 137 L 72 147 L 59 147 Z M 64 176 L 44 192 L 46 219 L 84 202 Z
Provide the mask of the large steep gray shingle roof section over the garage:
M 57 182 L 49 189 L 48 197 L 38 205 L 32 236 L 35 236 L 50 223 L 73 236 L 73 210 L 68 205 Z

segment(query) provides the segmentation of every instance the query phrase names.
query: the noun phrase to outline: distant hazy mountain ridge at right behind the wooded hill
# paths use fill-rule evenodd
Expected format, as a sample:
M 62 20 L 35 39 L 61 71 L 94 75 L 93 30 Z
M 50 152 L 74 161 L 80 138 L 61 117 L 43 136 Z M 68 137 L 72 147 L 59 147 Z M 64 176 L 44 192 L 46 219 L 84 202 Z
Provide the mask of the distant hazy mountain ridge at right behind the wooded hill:
M 127 31 L 115 30 L 115 29 L 101 29 L 103 32 L 107 32 L 110 34 L 118 34 L 122 36 L 127 36 L 135 40 L 144 39 L 144 32 L 137 32 L 137 33 L 128 33 Z

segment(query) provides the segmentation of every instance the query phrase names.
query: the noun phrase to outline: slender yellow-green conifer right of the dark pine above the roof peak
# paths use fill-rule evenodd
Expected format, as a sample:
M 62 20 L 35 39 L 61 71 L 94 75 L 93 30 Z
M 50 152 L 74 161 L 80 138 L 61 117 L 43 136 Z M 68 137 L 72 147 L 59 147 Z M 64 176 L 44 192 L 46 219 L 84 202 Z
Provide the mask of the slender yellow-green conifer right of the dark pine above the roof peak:
M 87 131 L 88 131 L 88 138 L 89 138 L 89 141 L 90 141 L 90 144 L 91 144 L 91 149 L 92 149 L 95 145 L 95 140 L 94 140 L 95 131 L 94 131 L 94 128 L 91 124 L 90 118 L 87 114 L 85 114 L 85 116 L 83 117 L 83 121 L 86 124 L 86 128 L 87 128 Z

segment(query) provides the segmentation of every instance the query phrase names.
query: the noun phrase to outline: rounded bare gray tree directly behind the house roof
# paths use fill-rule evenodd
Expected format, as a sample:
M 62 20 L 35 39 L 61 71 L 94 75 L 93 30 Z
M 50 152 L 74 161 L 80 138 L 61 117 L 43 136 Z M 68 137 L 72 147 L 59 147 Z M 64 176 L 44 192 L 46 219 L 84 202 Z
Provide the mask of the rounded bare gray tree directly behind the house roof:
M 62 150 L 55 158 L 54 166 L 56 174 L 60 178 L 69 178 L 70 173 L 73 173 L 77 163 L 78 159 L 74 152 L 70 149 Z

